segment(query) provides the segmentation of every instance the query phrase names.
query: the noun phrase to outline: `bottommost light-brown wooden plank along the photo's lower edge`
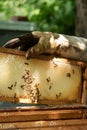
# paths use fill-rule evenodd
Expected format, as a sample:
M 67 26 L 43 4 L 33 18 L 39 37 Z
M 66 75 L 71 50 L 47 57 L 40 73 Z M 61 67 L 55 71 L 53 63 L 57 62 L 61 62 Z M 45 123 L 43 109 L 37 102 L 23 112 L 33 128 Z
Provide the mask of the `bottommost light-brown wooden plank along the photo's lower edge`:
M 29 130 L 87 130 L 87 120 L 51 120 L 0 123 L 2 129 L 29 129 Z

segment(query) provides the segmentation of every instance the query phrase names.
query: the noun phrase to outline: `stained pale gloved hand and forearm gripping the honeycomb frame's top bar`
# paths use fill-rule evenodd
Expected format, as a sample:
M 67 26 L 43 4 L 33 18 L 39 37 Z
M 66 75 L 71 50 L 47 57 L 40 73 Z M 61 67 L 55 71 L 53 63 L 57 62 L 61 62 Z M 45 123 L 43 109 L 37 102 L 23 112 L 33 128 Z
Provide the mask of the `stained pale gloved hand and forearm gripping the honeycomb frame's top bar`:
M 87 39 L 52 32 L 30 32 L 8 41 L 3 47 L 26 51 L 26 58 L 40 54 L 87 62 Z

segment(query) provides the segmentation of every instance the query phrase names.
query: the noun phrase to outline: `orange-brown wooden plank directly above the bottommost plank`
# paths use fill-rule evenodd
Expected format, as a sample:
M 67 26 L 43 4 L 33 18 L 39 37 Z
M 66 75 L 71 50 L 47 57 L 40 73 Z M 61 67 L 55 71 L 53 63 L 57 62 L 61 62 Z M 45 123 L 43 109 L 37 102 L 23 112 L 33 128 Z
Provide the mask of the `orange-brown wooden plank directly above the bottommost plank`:
M 39 111 L 2 111 L 0 122 L 82 119 L 87 118 L 87 110 L 39 110 Z

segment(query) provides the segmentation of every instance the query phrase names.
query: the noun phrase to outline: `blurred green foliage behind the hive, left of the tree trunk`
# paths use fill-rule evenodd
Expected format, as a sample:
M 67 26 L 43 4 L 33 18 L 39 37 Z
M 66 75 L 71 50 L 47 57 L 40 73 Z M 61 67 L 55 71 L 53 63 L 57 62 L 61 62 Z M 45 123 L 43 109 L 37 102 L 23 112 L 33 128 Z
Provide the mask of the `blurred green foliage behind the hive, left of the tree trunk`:
M 0 0 L 0 19 L 28 16 L 37 30 L 74 34 L 75 0 Z

